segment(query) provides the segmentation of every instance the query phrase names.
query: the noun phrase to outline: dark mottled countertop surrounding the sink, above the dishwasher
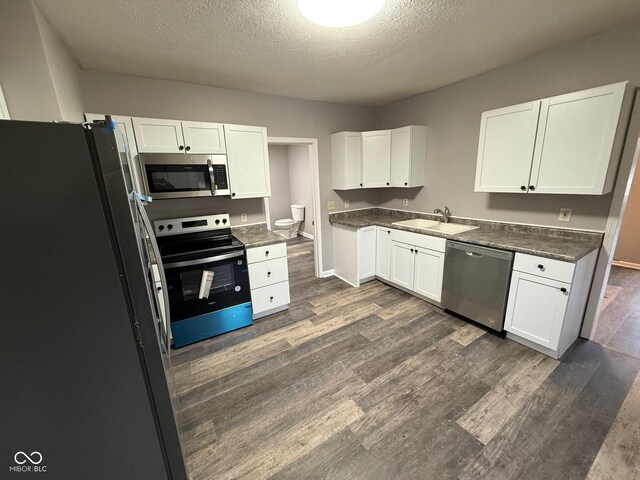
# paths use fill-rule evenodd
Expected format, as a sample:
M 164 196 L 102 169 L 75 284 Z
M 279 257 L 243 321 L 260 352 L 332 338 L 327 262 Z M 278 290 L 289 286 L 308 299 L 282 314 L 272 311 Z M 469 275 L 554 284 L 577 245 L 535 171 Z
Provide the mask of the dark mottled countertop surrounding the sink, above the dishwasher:
M 450 238 L 474 245 L 528 253 L 565 262 L 577 262 L 593 250 L 600 248 L 603 238 L 602 233 L 585 230 L 518 225 L 456 217 L 451 218 L 451 223 L 475 225 L 479 228 L 457 234 L 446 234 L 394 225 L 394 222 L 410 218 L 438 220 L 437 216 L 431 214 L 416 214 L 380 208 L 329 214 L 329 222 L 350 228 L 358 229 L 372 225 L 395 228 L 423 235 Z

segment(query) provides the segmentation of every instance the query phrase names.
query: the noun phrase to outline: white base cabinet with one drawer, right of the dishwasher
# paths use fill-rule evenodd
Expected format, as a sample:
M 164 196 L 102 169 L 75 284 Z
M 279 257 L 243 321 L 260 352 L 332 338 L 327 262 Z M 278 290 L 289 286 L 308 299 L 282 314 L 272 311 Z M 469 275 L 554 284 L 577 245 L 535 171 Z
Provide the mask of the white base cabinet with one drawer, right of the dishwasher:
M 580 334 L 598 250 L 577 263 L 516 253 L 504 329 L 554 358 Z

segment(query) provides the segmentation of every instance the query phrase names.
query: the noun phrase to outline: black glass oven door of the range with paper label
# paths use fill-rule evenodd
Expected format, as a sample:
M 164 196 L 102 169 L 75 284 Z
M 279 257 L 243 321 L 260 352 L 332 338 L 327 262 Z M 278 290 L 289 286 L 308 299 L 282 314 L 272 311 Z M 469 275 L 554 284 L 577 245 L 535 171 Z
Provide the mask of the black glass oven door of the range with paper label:
M 203 272 L 213 272 L 213 278 L 211 286 L 201 295 Z M 249 274 L 244 258 L 165 268 L 165 277 L 171 322 L 251 301 Z

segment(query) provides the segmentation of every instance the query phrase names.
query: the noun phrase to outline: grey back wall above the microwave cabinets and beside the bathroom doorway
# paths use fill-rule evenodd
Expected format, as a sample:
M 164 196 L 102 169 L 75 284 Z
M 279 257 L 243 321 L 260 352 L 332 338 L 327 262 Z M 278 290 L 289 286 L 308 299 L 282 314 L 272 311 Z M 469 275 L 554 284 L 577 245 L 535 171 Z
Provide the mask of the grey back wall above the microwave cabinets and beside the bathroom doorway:
M 82 85 L 85 108 L 91 112 L 261 125 L 267 127 L 268 134 L 272 137 L 317 138 L 323 262 L 325 269 L 332 268 L 331 226 L 326 206 L 329 200 L 336 201 L 337 205 L 341 201 L 331 190 L 329 136 L 342 130 L 371 129 L 374 125 L 373 109 L 90 70 L 82 71 Z M 350 194 L 351 208 L 375 205 L 377 198 L 375 191 L 353 192 Z M 233 211 L 251 209 L 251 218 L 258 219 L 259 212 L 262 211 L 262 200 L 249 201 L 246 207 L 237 206 L 246 202 L 229 200 L 226 205 Z M 172 203 L 174 202 L 170 200 L 165 200 L 162 204 L 156 202 L 153 213 L 157 216 L 169 216 L 170 211 L 183 208 L 173 206 Z M 204 204 L 199 201 L 183 200 L 180 203 L 185 208 L 190 208 L 191 205 L 194 208 L 204 208 Z

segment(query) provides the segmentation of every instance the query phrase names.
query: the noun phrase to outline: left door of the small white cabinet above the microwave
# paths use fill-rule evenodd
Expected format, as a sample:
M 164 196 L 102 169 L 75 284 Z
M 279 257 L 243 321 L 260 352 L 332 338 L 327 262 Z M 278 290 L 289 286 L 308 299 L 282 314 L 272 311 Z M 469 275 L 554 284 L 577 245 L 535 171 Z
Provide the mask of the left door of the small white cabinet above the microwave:
M 184 153 L 180 120 L 134 117 L 133 130 L 140 153 Z

